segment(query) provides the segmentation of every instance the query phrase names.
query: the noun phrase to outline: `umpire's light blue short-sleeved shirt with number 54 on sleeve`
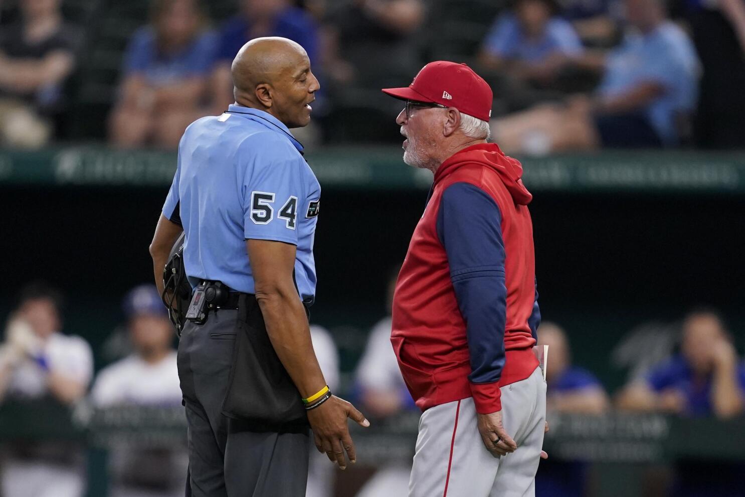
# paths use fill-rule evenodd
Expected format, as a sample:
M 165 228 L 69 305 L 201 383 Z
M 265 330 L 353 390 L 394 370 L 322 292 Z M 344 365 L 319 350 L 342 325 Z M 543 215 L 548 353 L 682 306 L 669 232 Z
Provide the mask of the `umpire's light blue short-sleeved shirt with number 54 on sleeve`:
M 211 279 L 255 293 L 245 241 L 282 241 L 297 246 L 295 282 L 313 303 L 320 185 L 301 152 L 273 115 L 236 104 L 186 128 L 163 215 L 186 232 L 192 287 Z

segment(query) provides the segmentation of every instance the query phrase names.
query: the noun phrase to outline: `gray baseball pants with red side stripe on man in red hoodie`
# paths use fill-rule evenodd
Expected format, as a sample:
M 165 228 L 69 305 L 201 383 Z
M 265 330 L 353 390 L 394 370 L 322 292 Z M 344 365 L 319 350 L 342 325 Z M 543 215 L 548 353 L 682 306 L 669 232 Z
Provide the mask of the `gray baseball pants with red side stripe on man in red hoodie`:
M 502 424 L 517 443 L 486 450 L 472 398 L 429 408 L 419 420 L 409 497 L 533 497 L 543 446 L 546 382 L 540 368 L 501 387 Z

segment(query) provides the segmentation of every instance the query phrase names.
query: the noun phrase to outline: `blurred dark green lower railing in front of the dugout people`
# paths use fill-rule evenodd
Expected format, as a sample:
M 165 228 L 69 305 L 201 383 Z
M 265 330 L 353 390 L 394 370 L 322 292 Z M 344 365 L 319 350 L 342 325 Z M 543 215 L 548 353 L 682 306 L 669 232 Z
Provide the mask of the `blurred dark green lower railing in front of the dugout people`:
M 418 412 L 371 420 L 370 428 L 352 425 L 358 466 L 399 463 L 413 457 Z M 603 416 L 554 414 L 544 448 L 557 460 L 583 460 L 602 468 L 599 495 L 612 493 L 619 472 L 641 471 L 653 463 L 676 460 L 745 461 L 745 418 L 689 419 L 660 414 L 610 413 Z M 75 410 L 46 402 L 5 404 L 0 408 L 0 442 L 77 440 L 88 448 L 89 496 L 107 489 L 107 451 L 113 446 L 186 446 L 183 408 L 116 407 Z M 706 441 L 706 443 L 703 443 Z M 616 487 L 615 490 L 618 490 Z

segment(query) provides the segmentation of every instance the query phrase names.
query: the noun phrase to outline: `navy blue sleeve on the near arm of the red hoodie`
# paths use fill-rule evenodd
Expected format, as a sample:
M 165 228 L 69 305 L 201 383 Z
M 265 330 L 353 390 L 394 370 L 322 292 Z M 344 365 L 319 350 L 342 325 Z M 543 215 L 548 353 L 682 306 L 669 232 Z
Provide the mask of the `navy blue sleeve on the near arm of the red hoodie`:
M 437 236 L 466 322 L 472 383 L 498 382 L 504 367 L 507 287 L 501 212 L 486 191 L 454 183 L 443 192 Z

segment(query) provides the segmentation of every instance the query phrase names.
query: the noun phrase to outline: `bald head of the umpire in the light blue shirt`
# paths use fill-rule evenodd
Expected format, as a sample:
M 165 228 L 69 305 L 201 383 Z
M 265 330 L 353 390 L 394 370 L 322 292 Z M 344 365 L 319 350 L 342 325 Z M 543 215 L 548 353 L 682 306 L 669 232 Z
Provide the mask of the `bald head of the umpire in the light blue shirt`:
M 310 122 L 314 92 L 320 89 L 305 49 L 287 38 L 247 42 L 232 63 L 235 102 L 264 110 L 287 127 Z

